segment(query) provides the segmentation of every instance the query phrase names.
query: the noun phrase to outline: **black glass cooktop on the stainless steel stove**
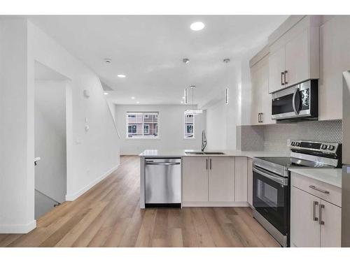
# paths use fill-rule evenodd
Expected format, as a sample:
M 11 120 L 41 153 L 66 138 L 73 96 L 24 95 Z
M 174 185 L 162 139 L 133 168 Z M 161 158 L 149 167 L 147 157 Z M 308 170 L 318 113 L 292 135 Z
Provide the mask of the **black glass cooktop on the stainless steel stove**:
M 334 166 L 328 166 L 324 163 L 318 163 L 314 161 L 308 161 L 304 159 L 296 159 L 294 157 L 255 157 L 263 161 L 275 163 L 279 166 L 286 168 L 334 168 Z

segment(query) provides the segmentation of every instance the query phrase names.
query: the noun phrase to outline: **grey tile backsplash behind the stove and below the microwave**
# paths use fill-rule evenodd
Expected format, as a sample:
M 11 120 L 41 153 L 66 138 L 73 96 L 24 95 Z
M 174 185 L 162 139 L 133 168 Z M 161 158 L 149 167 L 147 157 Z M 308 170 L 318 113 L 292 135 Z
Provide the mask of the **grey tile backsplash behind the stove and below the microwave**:
M 237 126 L 237 129 L 237 145 L 244 151 L 288 152 L 288 139 L 342 143 L 342 120 Z

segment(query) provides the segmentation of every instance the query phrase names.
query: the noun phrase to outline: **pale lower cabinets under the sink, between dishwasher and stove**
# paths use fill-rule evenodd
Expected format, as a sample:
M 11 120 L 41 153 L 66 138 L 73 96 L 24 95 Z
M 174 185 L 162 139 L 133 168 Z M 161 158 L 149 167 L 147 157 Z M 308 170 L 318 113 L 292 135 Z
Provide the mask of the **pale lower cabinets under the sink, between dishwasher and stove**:
M 247 158 L 183 157 L 182 201 L 186 206 L 246 203 Z

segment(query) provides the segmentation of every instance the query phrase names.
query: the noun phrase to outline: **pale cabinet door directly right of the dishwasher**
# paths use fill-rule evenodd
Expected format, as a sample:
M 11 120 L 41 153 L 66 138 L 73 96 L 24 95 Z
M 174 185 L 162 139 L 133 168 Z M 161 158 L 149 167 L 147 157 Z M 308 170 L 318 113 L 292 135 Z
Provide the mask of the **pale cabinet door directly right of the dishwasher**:
M 207 157 L 183 157 L 182 199 L 186 201 L 208 201 Z M 209 162 L 209 161 L 208 161 Z

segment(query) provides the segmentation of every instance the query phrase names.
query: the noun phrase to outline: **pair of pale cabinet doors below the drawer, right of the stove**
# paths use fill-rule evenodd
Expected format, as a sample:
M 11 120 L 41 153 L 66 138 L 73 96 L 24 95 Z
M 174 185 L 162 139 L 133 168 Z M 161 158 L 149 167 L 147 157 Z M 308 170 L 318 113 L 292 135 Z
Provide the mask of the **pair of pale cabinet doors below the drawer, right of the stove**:
M 297 187 L 290 196 L 291 245 L 340 247 L 342 208 Z

